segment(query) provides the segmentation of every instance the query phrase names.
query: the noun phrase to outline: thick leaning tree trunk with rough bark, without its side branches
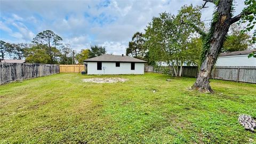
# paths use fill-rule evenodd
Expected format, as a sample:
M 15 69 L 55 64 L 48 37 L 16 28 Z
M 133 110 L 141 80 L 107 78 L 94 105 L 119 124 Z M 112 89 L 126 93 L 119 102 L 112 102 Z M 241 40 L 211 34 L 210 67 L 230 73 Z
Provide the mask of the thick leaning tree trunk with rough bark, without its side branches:
M 225 36 L 228 33 L 229 26 L 231 25 L 231 0 L 220 0 L 217 5 L 218 18 L 216 21 L 213 20 L 209 34 L 210 47 L 206 50 L 204 61 L 202 62 L 199 74 L 197 76 L 195 84 L 192 86 L 193 89 L 199 91 L 213 92 L 210 86 L 209 78 L 211 75 L 212 68 L 218 58 L 219 51 L 225 40 Z M 215 13 L 216 14 L 216 13 Z M 212 33 L 212 34 L 210 34 Z

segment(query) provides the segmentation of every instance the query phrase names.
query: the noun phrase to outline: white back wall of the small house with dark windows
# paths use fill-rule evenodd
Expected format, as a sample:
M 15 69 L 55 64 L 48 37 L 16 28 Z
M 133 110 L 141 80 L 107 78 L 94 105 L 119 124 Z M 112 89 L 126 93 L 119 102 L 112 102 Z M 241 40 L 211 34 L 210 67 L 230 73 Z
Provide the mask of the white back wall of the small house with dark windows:
M 104 69 L 105 70 L 104 70 Z M 88 75 L 119 75 L 119 74 L 144 74 L 144 63 L 135 62 L 135 69 L 131 70 L 131 62 L 102 62 L 102 70 L 97 70 L 97 62 L 87 62 Z

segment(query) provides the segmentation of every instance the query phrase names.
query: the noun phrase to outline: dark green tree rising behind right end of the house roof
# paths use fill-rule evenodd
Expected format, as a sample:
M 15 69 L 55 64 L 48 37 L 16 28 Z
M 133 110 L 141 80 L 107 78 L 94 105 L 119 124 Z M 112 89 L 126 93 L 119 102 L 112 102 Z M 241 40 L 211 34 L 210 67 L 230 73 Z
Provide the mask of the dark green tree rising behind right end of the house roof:
M 143 59 L 146 55 L 146 50 L 143 47 L 145 39 L 140 32 L 135 33 L 132 36 L 132 41 L 129 42 L 129 47 L 126 49 L 126 55 L 131 55 L 134 58 Z

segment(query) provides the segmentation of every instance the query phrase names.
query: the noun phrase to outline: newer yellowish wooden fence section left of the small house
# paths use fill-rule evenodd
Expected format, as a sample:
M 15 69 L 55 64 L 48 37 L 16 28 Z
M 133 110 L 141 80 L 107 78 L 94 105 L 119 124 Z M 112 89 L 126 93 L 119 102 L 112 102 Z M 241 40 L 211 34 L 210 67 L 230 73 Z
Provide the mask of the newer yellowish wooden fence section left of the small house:
M 60 65 L 60 73 L 80 73 L 85 71 L 84 65 Z

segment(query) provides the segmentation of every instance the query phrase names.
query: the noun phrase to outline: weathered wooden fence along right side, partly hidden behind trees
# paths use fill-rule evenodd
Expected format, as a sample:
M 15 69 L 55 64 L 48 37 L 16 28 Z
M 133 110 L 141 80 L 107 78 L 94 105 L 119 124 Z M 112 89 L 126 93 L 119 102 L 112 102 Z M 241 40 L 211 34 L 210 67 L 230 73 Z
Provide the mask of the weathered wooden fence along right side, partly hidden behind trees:
M 153 66 L 145 66 L 146 72 L 164 73 L 164 71 L 161 71 L 162 69 L 154 68 Z M 171 70 L 169 73 L 171 74 Z M 193 66 L 183 66 L 181 74 L 182 76 L 197 77 L 198 68 Z M 211 78 L 236 82 L 256 83 L 256 66 L 216 66 L 212 70 Z

